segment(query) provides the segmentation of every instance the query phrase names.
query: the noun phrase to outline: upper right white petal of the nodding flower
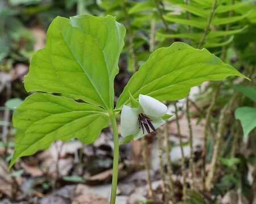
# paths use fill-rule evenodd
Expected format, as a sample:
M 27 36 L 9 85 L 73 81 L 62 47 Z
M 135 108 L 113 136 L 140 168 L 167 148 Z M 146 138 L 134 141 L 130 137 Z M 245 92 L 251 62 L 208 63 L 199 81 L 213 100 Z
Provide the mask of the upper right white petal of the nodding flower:
M 160 101 L 146 95 L 139 95 L 139 104 L 147 116 L 160 118 L 167 112 L 167 107 Z

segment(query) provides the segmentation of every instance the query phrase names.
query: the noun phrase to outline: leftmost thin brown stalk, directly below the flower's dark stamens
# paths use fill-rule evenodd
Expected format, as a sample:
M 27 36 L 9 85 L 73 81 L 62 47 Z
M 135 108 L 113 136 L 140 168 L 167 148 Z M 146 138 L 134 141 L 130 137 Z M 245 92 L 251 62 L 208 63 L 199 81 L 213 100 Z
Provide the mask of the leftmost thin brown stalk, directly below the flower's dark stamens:
M 145 137 L 142 137 L 142 156 L 143 156 L 143 162 L 145 165 L 145 169 L 147 172 L 147 185 L 148 185 L 148 197 L 150 199 L 153 198 L 153 189 L 152 189 L 152 181 L 150 176 L 150 165 L 148 163 L 147 159 L 147 141 Z

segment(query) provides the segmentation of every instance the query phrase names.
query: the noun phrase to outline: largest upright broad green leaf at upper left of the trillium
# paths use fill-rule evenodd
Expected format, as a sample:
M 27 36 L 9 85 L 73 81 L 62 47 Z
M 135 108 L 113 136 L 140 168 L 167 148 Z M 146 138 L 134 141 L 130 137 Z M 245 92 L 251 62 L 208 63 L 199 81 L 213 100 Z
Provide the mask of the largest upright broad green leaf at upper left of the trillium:
M 125 27 L 113 16 L 56 17 L 45 48 L 32 58 L 26 90 L 65 94 L 113 109 L 124 36 Z

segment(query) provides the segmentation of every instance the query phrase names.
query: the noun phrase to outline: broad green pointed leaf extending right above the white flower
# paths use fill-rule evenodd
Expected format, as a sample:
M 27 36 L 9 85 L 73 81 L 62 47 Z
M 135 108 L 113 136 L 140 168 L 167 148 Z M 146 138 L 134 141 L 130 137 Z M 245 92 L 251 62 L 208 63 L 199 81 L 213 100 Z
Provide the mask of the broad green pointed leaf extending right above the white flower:
M 199 50 L 183 42 L 174 42 L 150 55 L 127 83 L 116 108 L 129 101 L 129 91 L 135 99 L 143 94 L 160 101 L 178 100 L 187 96 L 193 86 L 228 76 L 245 77 L 206 49 Z

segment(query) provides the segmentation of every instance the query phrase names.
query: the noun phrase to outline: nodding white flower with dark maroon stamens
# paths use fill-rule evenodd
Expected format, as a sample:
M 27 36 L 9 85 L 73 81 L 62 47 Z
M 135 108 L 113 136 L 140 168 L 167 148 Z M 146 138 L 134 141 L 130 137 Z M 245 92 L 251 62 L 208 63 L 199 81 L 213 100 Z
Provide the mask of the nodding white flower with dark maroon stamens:
M 146 95 L 139 95 L 138 108 L 123 105 L 121 112 L 121 135 L 127 137 L 134 135 L 139 139 L 155 131 L 166 121 L 162 119 L 167 112 L 167 107 L 160 101 Z

